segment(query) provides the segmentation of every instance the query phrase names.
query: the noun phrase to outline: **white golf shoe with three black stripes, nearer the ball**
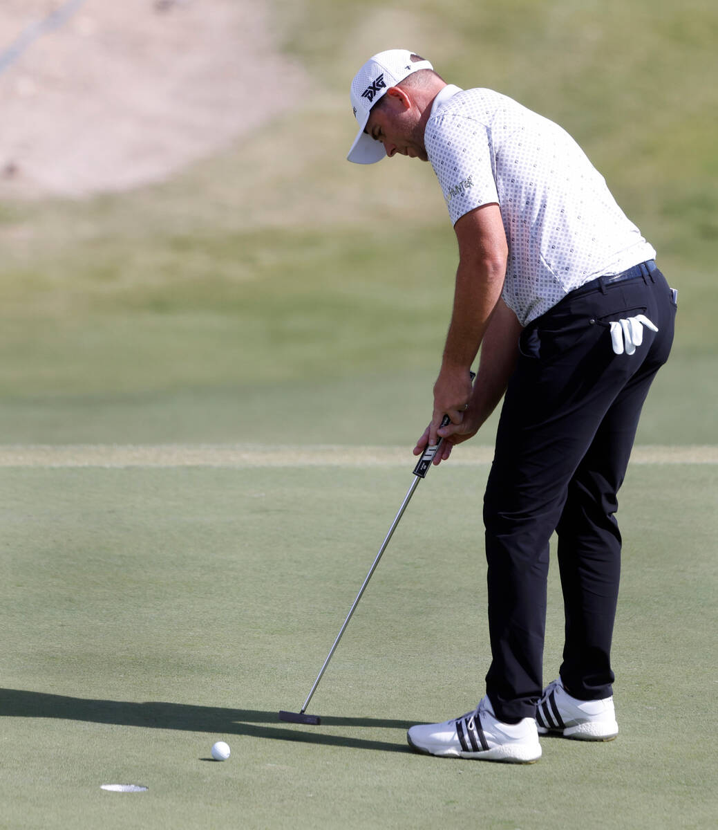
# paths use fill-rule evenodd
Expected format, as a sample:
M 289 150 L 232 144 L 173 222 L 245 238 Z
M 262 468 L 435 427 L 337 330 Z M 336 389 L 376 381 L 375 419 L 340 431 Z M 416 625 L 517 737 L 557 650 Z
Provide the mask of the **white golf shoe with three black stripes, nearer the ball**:
M 473 758 L 532 764 L 541 758 L 536 721 L 524 718 L 505 724 L 484 697 L 473 712 L 442 724 L 412 726 L 406 738 L 419 752 L 444 758 Z

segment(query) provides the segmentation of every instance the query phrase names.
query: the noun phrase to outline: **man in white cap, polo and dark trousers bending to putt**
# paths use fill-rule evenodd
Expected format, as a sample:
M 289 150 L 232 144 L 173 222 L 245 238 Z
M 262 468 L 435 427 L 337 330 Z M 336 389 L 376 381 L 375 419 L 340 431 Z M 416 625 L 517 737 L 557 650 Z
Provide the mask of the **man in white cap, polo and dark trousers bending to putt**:
M 559 126 L 487 89 L 447 85 L 405 50 L 352 81 L 349 160 L 429 161 L 458 240 L 454 310 L 415 454 L 434 463 L 503 398 L 484 496 L 492 662 L 467 715 L 409 730 L 420 752 L 530 763 L 539 735 L 611 740 L 614 518 L 638 417 L 673 338 L 676 292 L 656 251 Z M 407 206 L 407 214 L 415 210 Z M 479 347 L 478 374 L 469 369 Z M 440 427 L 444 415 L 450 423 Z M 558 536 L 565 646 L 543 687 L 549 539 Z M 470 603 L 473 582 L 458 583 Z

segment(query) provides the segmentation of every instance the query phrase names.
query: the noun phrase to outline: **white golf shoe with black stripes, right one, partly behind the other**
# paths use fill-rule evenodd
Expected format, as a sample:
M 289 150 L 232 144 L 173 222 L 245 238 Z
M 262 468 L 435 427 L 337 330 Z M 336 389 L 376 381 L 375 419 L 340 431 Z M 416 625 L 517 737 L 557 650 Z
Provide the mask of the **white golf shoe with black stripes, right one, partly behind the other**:
M 576 740 L 613 740 L 619 734 L 613 697 L 580 701 L 560 680 L 546 686 L 536 707 L 536 725 L 540 735 L 560 733 Z

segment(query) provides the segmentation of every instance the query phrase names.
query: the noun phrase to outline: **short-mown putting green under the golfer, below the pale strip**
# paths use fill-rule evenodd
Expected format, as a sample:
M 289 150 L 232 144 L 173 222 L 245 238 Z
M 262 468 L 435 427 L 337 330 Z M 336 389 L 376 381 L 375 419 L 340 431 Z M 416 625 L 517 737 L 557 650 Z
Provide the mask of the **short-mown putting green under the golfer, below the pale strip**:
M 410 752 L 409 725 L 483 694 L 487 472 L 416 491 L 305 727 L 277 711 L 308 694 L 409 460 L 4 469 L 2 827 L 711 826 L 715 464 L 637 464 L 623 487 L 617 740 L 545 739 L 531 766 Z M 547 681 L 561 634 L 554 567 Z M 149 789 L 100 789 L 129 783 Z

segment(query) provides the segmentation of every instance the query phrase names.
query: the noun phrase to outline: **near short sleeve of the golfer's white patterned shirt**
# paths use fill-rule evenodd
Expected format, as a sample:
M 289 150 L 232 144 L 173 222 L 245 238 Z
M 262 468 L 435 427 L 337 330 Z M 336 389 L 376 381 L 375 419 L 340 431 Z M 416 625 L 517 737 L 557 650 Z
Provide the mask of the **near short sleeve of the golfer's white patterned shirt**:
M 464 115 L 439 115 L 429 120 L 424 144 L 452 224 L 475 207 L 498 203 L 486 125 Z

